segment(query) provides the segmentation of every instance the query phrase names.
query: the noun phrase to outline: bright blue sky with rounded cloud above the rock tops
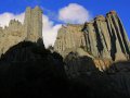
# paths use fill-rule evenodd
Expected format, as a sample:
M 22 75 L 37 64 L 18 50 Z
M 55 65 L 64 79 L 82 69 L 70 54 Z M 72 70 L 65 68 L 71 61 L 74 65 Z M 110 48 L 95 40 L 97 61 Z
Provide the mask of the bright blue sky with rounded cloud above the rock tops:
M 70 5 L 72 3 L 75 4 Z M 28 5 L 40 5 L 43 9 L 43 14 L 50 22 L 53 22 L 53 25 L 65 22 L 81 23 L 79 22 L 79 17 L 75 17 L 76 13 L 73 13 L 75 10 L 72 10 L 72 8 L 79 7 L 86 13 L 81 14 L 79 11 L 79 15 L 82 15 L 82 19 L 87 17 L 87 20 L 100 14 L 105 15 L 108 11 L 115 10 L 120 16 L 130 39 L 130 0 L 0 0 L 0 14 L 5 12 L 20 14 Z M 72 11 L 72 13 L 67 13 L 65 8 Z M 64 11 L 60 13 L 61 10 Z M 74 14 L 75 20 L 65 16 L 60 17 L 60 14 L 62 16 L 65 13 L 69 14 L 69 17 Z

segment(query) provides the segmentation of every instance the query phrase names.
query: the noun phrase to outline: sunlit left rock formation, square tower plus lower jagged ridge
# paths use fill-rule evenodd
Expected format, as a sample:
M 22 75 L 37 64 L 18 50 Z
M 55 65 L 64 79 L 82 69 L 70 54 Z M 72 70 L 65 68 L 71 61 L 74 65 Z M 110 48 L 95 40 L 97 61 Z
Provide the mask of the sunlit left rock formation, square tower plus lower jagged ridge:
M 0 56 L 23 40 L 43 45 L 42 11 L 38 7 L 26 9 L 24 24 L 11 20 L 9 26 L 0 27 Z

